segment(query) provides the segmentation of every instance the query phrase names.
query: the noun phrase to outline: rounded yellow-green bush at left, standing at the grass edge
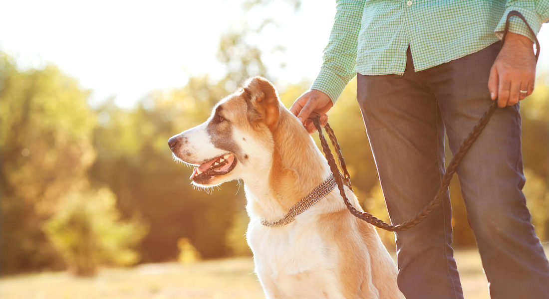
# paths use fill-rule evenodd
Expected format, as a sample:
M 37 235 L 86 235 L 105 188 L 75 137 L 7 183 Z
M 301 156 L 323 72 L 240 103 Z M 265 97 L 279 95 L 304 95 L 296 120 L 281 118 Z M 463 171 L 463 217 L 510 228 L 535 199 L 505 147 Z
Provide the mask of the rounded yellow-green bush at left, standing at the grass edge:
M 139 261 L 132 247 L 148 228 L 137 219 L 121 220 L 115 204 L 108 188 L 71 190 L 44 225 L 72 273 L 94 275 L 99 264 L 127 266 Z

